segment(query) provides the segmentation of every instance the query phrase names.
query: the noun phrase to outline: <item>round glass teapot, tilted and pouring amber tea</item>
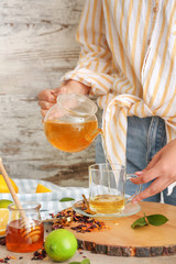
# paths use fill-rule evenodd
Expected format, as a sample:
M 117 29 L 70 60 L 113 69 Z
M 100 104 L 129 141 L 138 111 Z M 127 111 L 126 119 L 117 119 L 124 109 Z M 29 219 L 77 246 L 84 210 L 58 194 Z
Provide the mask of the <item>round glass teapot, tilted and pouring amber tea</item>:
M 96 103 L 86 96 L 59 95 L 44 119 L 46 139 L 64 152 L 85 150 L 101 132 L 96 112 Z

